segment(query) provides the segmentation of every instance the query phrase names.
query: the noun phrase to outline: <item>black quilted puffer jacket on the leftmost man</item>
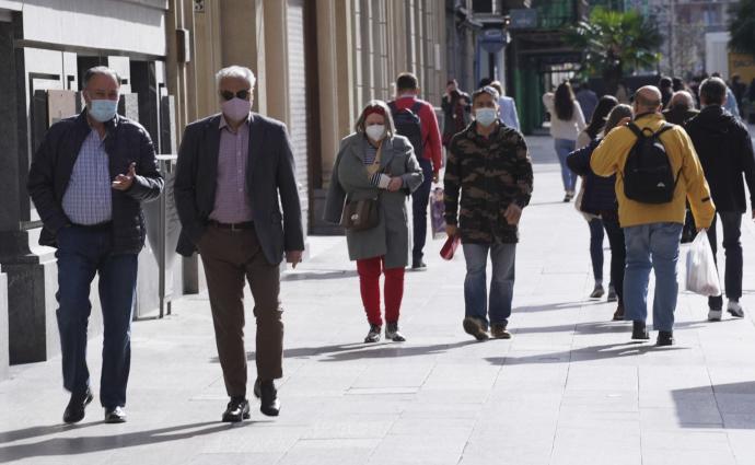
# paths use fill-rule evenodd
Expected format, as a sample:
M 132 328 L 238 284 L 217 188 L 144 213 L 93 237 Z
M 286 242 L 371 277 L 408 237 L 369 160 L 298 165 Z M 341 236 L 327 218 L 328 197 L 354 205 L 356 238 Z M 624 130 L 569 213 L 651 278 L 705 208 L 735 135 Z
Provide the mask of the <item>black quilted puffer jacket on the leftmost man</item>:
M 126 191 L 113 190 L 113 253 L 137 254 L 144 246 L 144 214 L 141 202 L 158 198 L 163 178 L 158 171 L 152 140 L 136 121 L 116 115 L 106 124 L 105 152 L 109 156 L 111 178 L 128 173 L 136 163 L 137 176 Z M 44 224 L 40 245 L 57 245 L 58 231 L 70 220 L 62 198 L 79 151 L 91 131 L 86 111 L 53 125 L 34 154 L 26 188 Z

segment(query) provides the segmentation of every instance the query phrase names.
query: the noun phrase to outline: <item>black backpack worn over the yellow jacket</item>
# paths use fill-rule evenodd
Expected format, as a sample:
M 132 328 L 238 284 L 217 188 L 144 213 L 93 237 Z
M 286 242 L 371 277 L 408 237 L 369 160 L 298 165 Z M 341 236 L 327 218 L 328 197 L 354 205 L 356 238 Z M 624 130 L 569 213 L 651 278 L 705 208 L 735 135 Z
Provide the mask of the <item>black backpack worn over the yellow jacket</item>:
M 637 142 L 624 164 L 624 195 L 642 204 L 672 201 L 682 170 L 674 176 L 660 136 L 674 125 L 664 124 L 658 132 L 649 128 L 640 129 L 634 123 L 627 127 L 637 136 Z

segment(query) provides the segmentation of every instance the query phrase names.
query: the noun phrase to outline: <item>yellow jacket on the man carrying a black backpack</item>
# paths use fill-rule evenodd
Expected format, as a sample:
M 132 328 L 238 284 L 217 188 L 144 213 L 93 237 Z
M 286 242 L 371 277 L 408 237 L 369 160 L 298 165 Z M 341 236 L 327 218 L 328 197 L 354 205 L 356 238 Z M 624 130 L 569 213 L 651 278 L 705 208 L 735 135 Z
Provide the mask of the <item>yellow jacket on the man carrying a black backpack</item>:
M 635 121 L 640 128 L 653 131 L 661 129 L 664 123 L 660 113 L 640 116 Z M 622 228 L 664 222 L 684 224 L 685 197 L 689 200 L 697 226 L 709 228 L 716 214 L 716 206 L 710 198 L 710 188 L 689 136 L 681 126 L 674 126 L 663 132 L 660 139 L 674 173 L 680 173 L 674 199 L 669 204 L 641 204 L 629 200 L 624 195 L 624 165 L 637 141 L 629 128 L 617 127 L 612 130 L 592 153 L 590 166 L 596 175 L 607 177 L 616 174 L 616 198 Z

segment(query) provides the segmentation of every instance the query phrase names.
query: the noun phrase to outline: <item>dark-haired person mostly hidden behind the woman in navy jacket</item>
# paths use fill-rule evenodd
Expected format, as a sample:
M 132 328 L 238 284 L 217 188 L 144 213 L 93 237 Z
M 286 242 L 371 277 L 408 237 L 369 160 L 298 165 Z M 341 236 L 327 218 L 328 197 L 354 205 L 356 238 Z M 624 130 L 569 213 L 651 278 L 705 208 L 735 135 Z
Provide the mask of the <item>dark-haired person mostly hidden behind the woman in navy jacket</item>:
M 603 95 L 595 107 L 592 120 L 583 131 L 579 133 L 577 138 L 577 147 L 584 148 L 591 144 L 592 141 L 597 139 L 599 135 L 603 131 L 605 126 L 605 120 L 608 113 L 618 105 L 616 97 L 612 95 Z M 572 152 L 573 153 L 573 152 Z M 605 288 L 603 288 L 603 221 L 601 221 L 600 211 L 595 209 L 584 208 L 583 202 L 585 201 L 584 196 L 588 190 L 592 190 L 595 184 L 594 174 L 589 175 L 585 170 L 581 172 L 576 171 L 569 160 L 567 159 L 567 165 L 569 168 L 582 176 L 582 183 L 580 186 L 580 191 L 577 195 L 574 205 L 577 210 L 582 213 L 584 219 L 588 221 L 588 226 L 590 228 L 590 259 L 592 261 L 592 274 L 595 281 L 592 292 L 590 293 L 590 299 L 600 299 L 605 294 Z M 609 297 L 609 300 L 615 300 L 616 294 L 613 286 L 609 287 L 614 295 Z

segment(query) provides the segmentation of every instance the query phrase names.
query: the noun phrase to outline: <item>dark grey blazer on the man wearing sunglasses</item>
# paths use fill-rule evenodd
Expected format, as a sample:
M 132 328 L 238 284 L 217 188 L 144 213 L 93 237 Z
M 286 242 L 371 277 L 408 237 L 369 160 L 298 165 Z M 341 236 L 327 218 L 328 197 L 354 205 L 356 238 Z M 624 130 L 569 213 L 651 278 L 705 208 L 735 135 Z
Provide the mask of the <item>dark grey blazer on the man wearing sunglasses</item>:
M 282 123 L 256 113 L 251 118 L 246 186 L 254 229 L 265 258 L 278 265 L 283 251 L 304 249 L 293 154 Z M 194 253 L 214 208 L 219 149 L 220 114 L 191 123 L 184 130 L 174 183 L 182 224 L 176 252 L 181 255 Z

